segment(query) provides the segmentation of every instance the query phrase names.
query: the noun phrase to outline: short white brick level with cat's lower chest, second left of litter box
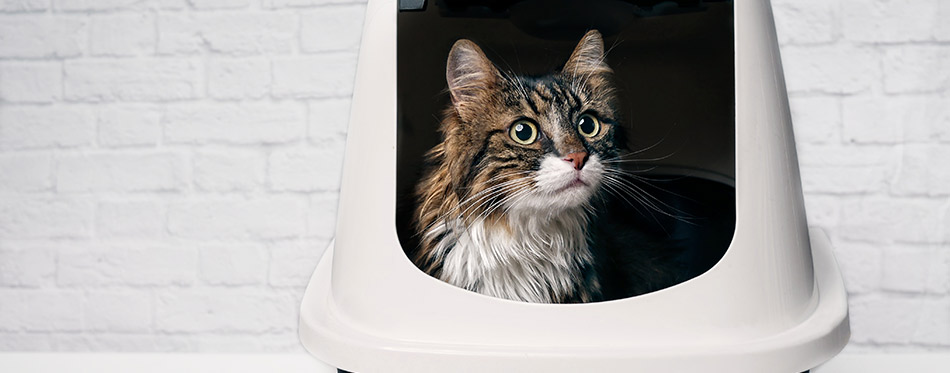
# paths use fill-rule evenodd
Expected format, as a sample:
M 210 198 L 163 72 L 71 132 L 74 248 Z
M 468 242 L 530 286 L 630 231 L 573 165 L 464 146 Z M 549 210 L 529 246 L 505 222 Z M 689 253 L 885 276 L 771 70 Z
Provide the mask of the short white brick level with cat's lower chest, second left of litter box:
M 219 245 L 199 249 L 199 276 L 211 285 L 258 285 L 267 282 L 267 249 L 255 245 Z

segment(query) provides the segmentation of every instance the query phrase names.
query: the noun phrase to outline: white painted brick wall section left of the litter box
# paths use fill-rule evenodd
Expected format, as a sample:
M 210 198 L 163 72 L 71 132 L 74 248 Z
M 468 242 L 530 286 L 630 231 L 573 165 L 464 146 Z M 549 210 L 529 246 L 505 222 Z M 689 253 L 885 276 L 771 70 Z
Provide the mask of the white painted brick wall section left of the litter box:
M 364 2 L 0 0 L 0 350 L 301 351 Z

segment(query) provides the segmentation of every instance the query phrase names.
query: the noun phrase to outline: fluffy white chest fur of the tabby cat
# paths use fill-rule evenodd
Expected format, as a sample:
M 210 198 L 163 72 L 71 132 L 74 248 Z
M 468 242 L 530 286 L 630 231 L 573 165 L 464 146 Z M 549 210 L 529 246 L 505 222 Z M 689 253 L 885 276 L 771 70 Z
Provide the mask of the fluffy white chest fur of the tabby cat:
M 508 227 L 477 221 L 450 232 L 436 245 L 444 258 L 440 278 L 482 294 L 551 303 L 577 295 L 593 262 L 583 209 L 523 210 L 507 216 Z

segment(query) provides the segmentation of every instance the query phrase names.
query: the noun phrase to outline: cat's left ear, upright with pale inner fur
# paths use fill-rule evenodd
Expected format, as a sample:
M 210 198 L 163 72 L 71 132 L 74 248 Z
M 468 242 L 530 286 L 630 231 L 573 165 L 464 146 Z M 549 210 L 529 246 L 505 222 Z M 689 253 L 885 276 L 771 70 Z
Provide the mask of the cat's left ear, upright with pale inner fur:
M 484 95 L 497 88 L 498 70 L 485 53 L 470 40 L 459 40 L 452 46 L 445 66 L 445 80 L 449 83 L 452 104 L 462 119 L 475 109 Z

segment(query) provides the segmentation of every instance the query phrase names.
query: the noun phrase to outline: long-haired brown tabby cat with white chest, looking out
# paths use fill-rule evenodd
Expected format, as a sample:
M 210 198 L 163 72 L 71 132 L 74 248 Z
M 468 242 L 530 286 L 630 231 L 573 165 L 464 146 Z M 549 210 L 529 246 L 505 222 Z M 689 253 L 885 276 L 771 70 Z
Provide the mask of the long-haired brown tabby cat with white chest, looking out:
M 596 30 L 539 77 L 503 72 L 469 40 L 452 46 L 443 141 L 417 190 L 420 269 L 510 300 L 603 299 L 589 225 L 625 146 L 604 59 Z

